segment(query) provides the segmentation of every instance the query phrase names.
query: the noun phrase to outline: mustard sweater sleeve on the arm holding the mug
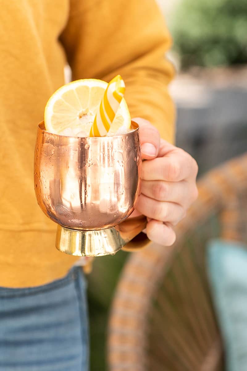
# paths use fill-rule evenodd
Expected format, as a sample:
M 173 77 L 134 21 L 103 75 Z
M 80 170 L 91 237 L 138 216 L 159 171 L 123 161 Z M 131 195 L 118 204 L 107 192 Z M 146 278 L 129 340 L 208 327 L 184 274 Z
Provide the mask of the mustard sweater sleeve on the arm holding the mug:
M 149 120 L 174 142 L 175 110 L 167 90 L 174 68 L 165 56 L 171 37 L 155 0 L 71 0 L 60 41 L 73 80 L 110 81 L 120 74 L 131 117 Z M 139 238 L 126 247 L 143 246 Z

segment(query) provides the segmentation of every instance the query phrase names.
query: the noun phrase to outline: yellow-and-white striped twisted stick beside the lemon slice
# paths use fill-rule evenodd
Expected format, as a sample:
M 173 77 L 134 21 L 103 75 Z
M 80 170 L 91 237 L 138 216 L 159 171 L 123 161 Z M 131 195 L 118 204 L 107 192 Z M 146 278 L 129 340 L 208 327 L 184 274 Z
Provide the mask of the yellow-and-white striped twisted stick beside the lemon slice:
M 90 137 L 104 137 L 109 132 L 124 92 L 124 81 L 120 75 L 117 75 L 109 82 L 104 92 L 90 129 Z

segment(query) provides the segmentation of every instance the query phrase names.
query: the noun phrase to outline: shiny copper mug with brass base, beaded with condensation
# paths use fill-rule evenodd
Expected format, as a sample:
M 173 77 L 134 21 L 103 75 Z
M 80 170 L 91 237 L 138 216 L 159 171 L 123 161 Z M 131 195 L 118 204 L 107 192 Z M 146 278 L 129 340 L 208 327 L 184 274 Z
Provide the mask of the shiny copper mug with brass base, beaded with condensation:
M 34 154 L 36 198 L 57 227 L 56 247 L 76 256 L 116 253 L 133 233 L 124 220 L 140 193 L 138 125 L 109 137 L 68 137 L 37 130 Z M 136 223 L 137 227 L 134 227 Z M 133 219 L 135 234 L 146 218 Z

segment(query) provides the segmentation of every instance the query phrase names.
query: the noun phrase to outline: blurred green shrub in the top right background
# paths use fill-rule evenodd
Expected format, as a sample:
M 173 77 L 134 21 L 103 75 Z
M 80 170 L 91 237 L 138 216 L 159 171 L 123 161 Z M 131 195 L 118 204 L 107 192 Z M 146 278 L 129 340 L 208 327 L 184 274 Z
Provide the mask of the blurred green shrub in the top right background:
M 183 68 L 247 63 L 247 0 L 181 0 L 171 29 Z

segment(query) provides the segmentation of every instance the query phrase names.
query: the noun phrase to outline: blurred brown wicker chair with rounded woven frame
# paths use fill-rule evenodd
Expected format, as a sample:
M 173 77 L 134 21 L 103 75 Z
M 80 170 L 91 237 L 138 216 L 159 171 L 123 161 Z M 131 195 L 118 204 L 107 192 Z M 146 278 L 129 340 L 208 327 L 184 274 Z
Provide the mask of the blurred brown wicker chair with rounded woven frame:
M 109 319 L 109 371 L 224 370 L 206 271 L 212 237 L 247 240 L 247 154 L 207 173 L 171 247 L 130 255 Z

